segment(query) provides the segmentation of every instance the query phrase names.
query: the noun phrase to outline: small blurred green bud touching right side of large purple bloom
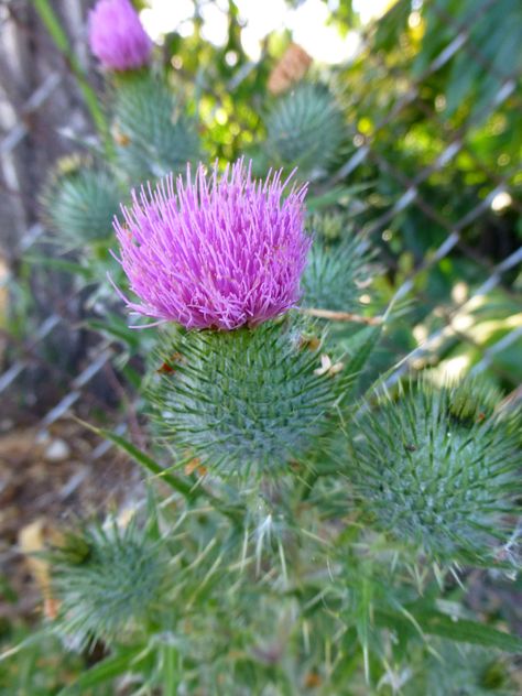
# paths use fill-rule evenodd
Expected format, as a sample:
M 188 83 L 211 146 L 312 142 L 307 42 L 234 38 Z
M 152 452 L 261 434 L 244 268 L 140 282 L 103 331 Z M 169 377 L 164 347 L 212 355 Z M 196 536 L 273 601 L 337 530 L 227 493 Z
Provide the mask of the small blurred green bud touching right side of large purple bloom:
M 303 305 L 352 312 L 371 278 L 371 252 L 362 237 L 344 236 L 340 216 L 315 216 L 309 225 L 315 241 L 303 276 Z M 340 238 L 331 240 L 338 228 Z

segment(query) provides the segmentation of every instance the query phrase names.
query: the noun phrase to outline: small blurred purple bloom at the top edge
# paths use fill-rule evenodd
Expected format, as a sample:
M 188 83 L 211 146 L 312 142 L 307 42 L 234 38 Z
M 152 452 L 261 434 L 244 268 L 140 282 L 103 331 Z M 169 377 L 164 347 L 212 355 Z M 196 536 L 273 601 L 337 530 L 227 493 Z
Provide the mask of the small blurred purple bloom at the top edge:
M 129 0 L 98 0 L 89 12 L 89 45 L 111 70 L 142 67 L 152 51 L 152 41 Z

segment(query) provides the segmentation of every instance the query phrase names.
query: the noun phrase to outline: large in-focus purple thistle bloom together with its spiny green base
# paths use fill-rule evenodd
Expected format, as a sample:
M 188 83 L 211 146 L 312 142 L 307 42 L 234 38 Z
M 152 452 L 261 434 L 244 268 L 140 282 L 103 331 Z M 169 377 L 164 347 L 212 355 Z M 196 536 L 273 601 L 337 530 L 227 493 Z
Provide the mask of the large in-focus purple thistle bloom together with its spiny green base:
M 280 469 L 301 456 L 335 399 L 298 333 L 268 323 L 296 305 L 312 241 L 305 187 L 283 198 L 287 187 L 281 172 L 253 181 L 243 161 L 220 177 L 199 165 L 194 182 L 188 171 L 185 184 L 171 177 L 134 194 L 116 225 L 141 298 L 128 306 L 188 329 L 161 358 L 162 431 L 221 472 Z

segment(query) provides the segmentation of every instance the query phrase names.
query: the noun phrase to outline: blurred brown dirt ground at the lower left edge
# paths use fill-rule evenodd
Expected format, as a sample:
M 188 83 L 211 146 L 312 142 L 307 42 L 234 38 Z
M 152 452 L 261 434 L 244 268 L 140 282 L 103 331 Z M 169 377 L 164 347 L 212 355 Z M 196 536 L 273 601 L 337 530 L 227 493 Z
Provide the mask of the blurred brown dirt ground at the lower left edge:
M 42 606 L 23 552 L 77 518 L 132 504 L 140 481 L 134 464 L 74 421 L 0 432 L 0 620 L 34 617 Z

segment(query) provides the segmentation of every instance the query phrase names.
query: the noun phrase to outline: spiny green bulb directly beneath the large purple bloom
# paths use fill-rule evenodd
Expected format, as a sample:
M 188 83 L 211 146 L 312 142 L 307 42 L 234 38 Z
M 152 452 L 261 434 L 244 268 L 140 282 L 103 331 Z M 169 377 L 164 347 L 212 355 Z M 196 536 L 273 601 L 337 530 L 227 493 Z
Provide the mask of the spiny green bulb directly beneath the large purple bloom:
M 152 389 L 167 439 L 221 472 L 281 469 L 314 445 L 334 401 L 334 378 L 283 324 L 189 331 L 162 359 Z

